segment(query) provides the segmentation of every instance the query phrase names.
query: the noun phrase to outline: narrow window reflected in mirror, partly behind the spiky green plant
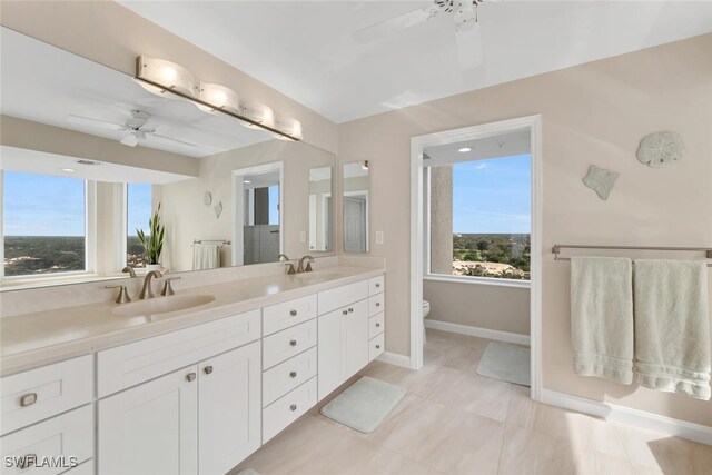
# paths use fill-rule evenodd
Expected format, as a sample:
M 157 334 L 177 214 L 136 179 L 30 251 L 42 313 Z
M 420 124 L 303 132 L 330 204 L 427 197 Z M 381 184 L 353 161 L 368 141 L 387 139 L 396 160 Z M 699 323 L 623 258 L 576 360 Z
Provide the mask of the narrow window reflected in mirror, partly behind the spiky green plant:
M 146 250 L 138 240 L 137 229 L 148 232 L 148 221 L 152 214 L 152 189 L 150 184 L 126 186 L 126 265 L 134 268 L 146 267 Z

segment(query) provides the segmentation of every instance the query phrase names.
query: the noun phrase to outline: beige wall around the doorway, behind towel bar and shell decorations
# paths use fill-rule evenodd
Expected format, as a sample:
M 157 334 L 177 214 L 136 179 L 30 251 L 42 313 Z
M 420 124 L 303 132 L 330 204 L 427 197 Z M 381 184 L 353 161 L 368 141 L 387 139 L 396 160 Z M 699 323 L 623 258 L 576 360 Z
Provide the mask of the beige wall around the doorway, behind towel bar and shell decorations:
M 568 265 L 551 255 L 556 243 L 712 246 L 710 51 L 706 34 L 339 126 L 339 160 L 370 160 L 370 229 L 385 231 L 370 254 L 386 258 L 386 349 L 409 353 L 411 138 L 541 113 L 544 387 L 712 425 L 712 403 L 574 375 Z M 688 147 L 668 169 L 635 158 L 657 130 L 680 132 Z M 592 164 L 621 174 L 607 201 L 581 182 Z

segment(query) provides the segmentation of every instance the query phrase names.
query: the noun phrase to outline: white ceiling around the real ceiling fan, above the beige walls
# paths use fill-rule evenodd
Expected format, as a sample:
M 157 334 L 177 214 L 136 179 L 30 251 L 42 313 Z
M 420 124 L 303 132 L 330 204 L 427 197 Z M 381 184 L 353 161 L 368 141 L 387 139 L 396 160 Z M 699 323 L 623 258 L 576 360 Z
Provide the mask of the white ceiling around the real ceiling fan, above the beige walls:
M 712 1 L 485 1 L 464 72 L 445 16 L 352 37 L 431 0 L 119 2 L 336 122 L 712 31 Z

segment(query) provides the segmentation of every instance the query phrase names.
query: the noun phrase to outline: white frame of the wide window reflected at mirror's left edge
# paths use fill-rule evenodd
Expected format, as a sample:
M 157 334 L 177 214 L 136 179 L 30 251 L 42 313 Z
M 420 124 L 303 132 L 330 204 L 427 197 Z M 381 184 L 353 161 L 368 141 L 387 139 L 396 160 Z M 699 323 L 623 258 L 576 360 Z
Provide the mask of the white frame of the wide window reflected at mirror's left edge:
M 14 170 L 7 170 L 14 171 Z M 69 270 L 66 273 L 48 273 L 48 274 L 26 274 L 21 276 L 7 276 L 4 274 L 4 181 L 6 170 L 0 170 L 0 232 L 2 234 L 2 243 L 0 243 L 0 283 L 27 283 L 27 281 L 49 281 L 51 279 L 71 279 L 83 276 L 97 275 L 97 182 L 95 180 L 82 179 L 85 182 L 85 269 Z M 19 171 L 23 174 L 34 174 L 31 171 Z M 50 175 L 59 178 L 75 178 L 62 175 Z

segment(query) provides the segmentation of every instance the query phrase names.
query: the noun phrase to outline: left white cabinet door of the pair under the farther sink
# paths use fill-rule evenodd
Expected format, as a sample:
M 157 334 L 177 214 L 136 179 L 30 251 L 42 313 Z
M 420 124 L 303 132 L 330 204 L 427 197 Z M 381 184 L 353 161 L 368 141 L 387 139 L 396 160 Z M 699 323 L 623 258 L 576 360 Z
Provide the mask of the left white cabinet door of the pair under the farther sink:
M 319 317 L 318 386 L 319 400 L 344 383 L 346 374 L 346 308 Z

